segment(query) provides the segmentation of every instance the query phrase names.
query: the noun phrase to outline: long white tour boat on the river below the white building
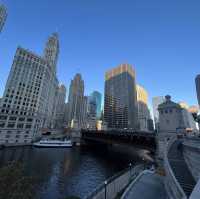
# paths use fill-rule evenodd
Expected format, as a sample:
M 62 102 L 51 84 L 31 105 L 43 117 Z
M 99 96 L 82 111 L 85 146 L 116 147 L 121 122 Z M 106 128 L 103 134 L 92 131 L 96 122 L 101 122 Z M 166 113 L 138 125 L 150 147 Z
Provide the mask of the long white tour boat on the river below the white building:
M 71 140 L 40 140 L 33 143 L 35 147 L 72 147 Z

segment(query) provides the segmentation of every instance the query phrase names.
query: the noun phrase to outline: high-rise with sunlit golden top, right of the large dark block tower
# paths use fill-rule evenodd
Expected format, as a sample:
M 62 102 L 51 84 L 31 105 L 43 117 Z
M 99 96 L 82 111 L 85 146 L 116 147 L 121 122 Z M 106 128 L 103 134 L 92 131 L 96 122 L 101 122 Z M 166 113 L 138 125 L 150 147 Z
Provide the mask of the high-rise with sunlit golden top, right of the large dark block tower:
M 148 93 L 140 85 L 137 84 L 137 103 L 138 103 L 138 121 L 140 130 L 148 130 L 148 121 L 151 119 L 150 111 L 148 108 Z

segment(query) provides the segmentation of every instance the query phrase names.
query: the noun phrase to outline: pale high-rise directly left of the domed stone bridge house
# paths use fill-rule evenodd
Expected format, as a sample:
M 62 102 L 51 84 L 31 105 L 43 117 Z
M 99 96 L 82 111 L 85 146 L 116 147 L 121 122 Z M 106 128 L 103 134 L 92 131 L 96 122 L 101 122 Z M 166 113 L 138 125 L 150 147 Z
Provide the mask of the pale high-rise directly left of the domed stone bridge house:
M 153 97 L 152 104 L 153 104 L 153 115 L 154 115 L 154 123 L 155 128 L 158 130 L 158 123 L 159 123 L 159 112 L 158 106 L 165 102 L 165 98 L 163 96 Z

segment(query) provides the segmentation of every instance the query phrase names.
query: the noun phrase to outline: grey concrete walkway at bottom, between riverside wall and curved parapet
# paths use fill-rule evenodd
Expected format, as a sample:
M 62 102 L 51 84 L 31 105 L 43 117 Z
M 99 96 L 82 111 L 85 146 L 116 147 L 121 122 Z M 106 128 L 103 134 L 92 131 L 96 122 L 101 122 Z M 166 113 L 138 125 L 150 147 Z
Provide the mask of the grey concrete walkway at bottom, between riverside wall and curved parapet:
M 143 174 L 127 191 L 123 199 L 166 199 L 164 177 L 155 173 Z

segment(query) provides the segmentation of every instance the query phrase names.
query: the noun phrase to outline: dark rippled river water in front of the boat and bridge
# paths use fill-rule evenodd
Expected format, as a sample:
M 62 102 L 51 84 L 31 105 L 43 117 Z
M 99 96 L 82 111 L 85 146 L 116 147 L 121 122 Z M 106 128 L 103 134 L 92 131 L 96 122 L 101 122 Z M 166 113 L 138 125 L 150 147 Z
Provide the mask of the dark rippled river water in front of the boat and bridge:
M 130 162 L 139 162 L 141 154 L 140 150 L 128 155 L 113 149 L 88 147 L 12 147 L 0 150 L 0 166 L 13 160 L 22 161 L 28 175 L 38 179 L 37 198 L 64 199 L 71 195 L 83 198 Z

